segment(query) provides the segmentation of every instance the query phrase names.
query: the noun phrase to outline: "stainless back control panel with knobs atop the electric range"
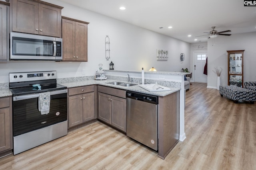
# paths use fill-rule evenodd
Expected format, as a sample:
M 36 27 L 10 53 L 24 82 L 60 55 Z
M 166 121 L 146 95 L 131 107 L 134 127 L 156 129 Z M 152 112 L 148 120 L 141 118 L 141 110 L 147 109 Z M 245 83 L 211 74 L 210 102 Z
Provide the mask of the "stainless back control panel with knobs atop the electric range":
M 26 82 L 32 80 L 49 80 L 57 79 L 56 71 L 42 71 L 42 72 L 12 72 L 9 73 L 10 83 L 12 82 Z

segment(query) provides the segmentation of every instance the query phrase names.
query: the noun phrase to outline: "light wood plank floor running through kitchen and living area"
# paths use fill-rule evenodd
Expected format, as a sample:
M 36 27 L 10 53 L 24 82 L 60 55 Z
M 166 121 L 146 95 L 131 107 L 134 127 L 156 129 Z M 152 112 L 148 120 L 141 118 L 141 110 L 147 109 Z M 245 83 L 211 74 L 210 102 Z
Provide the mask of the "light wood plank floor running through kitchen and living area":
M 0 158 L 14 170 L 255 170 L 256 104 L 234 104 L 206 84 L 186 92 L 184 142 L 165 160 L 124 134 L 95 122 L 15 156 Z

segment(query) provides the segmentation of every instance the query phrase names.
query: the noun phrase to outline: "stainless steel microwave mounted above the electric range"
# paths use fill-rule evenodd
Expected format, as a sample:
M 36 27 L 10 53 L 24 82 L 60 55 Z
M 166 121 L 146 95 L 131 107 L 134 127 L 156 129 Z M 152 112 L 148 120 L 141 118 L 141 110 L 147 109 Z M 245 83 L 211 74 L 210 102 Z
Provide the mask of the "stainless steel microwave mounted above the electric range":
M 62 60 L 62 38 L 10 33 L 10 60 Z

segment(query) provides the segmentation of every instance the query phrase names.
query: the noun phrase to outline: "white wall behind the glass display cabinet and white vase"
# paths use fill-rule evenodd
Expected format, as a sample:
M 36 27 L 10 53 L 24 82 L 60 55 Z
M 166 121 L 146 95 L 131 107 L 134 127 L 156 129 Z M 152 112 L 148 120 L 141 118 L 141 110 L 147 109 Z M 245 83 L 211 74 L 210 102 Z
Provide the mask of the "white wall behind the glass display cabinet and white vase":
M 208 88 L 216 88 L 217 75 L 214 67 L 223 68 L 220 85 L 228 84 L 228 53 L 230 50 L 244 51 L 244 82 L 256 81 L 256 32 L 218 36 L 208 39 Z

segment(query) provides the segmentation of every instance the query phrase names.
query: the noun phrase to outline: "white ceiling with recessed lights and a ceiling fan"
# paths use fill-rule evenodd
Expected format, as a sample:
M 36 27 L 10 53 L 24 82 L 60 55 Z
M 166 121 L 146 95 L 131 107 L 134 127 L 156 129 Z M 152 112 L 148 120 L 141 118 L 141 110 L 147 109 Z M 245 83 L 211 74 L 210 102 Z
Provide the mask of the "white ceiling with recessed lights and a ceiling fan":
M 256 6 L 243 0 L 60 0 L 188 43 L 206 42 L 204 32 L 256 31 Z M 120 10 L 124 6 L 126 10 Z M 168 27 L 172 26 L 171 29 Z M 159 27 L 163 27 L 160 29 Z M 188 35 L 192 35 L 188 37 Z M 220 36 L 220 35 L 219 35 Z M 224 36 L 224 35 L 222 35 Z M 231 35 L 232 36 L 232 35 Z

